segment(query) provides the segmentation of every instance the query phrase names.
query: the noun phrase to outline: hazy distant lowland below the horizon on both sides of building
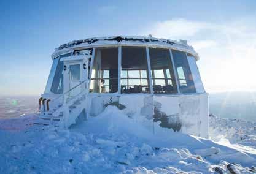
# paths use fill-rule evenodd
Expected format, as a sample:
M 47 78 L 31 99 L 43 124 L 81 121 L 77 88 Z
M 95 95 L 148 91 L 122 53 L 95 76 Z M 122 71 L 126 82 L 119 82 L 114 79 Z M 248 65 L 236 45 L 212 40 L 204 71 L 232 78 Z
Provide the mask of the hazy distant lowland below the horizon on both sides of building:
M 0 118 L 36 113 L 39 96 L 1 96 Z M 256 92 L 210 93 L 210 113 L 222 118 L 256 121 Z

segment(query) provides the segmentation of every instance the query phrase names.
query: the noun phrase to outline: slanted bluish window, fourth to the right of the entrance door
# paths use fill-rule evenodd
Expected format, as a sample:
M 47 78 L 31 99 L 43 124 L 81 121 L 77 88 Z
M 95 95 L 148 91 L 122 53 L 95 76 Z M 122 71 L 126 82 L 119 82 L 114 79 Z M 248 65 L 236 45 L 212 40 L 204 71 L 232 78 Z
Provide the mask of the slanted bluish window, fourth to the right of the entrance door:
M 195 93 L 195 85 L 185 52 L 172 50 L 174 66 L 177 70 L 180 93 Z

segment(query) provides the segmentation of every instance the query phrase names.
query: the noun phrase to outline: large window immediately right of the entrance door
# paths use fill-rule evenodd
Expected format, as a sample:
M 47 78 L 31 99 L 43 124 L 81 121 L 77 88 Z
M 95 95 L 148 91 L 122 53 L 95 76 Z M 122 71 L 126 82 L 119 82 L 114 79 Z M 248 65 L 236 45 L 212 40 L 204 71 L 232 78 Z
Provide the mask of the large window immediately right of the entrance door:
M 91 93 L 118 91 L 118 48 L 96 48 L 91 72 Z

